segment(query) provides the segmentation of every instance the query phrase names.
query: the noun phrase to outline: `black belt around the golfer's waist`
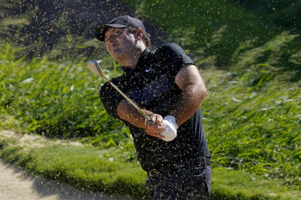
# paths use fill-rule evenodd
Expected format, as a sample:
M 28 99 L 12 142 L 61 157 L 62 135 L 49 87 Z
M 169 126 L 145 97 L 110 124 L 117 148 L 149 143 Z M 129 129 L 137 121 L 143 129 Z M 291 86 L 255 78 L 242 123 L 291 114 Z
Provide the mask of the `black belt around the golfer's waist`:
M 150 180 L 154 180 L 155 178 L 158 178 L 159 176 L 167 172 L 172 172 L 187 165 L 198 165 L 200 167 L 206 167 L 211 166 L 211 161 L 210 158 L 206 157 L 197 157 L 189 160 L 181 160 L 179 162 L 175 162 L 167 166 L 162 166 L 158 169 L 150 170 L 149 172 L 147 172 L 147 178 L 149 178 Z

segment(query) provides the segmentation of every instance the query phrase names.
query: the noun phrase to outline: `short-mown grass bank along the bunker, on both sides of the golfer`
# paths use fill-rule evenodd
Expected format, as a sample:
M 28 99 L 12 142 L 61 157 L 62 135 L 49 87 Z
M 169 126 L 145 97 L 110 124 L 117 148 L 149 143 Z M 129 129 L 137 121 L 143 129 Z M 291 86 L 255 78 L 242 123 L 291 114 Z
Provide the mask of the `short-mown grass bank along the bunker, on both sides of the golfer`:
M 0 156 L 26 171 L 93 192 L 118 193 L 139 199 L 147 197 L 145 172 L 129 161 L 120 148 L 96 148 L 70 140 L 46 139 L 37 135 L 0 134 Z M 263 180 L 231 169 L 214 168 L 210 199 L 289 200 L 301 197 L 283 180 Z

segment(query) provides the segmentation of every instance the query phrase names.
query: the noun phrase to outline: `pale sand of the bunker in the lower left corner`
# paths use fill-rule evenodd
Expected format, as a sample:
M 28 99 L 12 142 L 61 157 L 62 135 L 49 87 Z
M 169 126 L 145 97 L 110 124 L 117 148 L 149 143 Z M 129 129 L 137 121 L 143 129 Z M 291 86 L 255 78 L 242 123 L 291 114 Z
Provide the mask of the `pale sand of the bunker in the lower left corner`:
M 40 176 L 0 162 L 1 200 L 134 200 L 127 197 L 91 193 L 68 184 L 45 180 Z

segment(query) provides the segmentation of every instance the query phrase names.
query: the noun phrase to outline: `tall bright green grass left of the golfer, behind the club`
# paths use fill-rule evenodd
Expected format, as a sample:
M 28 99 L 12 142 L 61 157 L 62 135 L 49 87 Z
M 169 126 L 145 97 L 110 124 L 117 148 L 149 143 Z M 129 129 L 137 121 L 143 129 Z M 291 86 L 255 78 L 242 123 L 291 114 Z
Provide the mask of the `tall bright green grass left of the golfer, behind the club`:
M 43 57 L 28 61 L 25 56 L 16 59 L 18 51 L 22 48 L 13 49 L 9 43 L 2 43 L 0 48 L 0 109 L 3 118 L 18 121 L 7 128 L 70 137 L 94 136 L 120 125 L 98 101 L 104 80 L 86 68 L 86 59 L 55 62 Z M 112 70 L 115 72 L 116 68 Z

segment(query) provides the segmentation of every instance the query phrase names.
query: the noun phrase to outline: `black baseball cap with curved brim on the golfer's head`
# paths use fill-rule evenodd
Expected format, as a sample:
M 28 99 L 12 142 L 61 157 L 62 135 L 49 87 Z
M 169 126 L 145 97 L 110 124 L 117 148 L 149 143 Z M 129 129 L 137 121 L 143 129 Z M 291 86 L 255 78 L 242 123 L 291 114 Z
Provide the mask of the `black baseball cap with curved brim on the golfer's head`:
M 107 24 L 98 26 L 95 30 L 95 37 L 99 41 L 104 42 L 104 33 L 107 31 L 108 27 L 122 28 L 128 26 L 141 28 L 143 32 L 146 32 L 143 23 L 139 19 L 130 17 L 129 15 L 124 15 L 124 16 L 115 17 Z

